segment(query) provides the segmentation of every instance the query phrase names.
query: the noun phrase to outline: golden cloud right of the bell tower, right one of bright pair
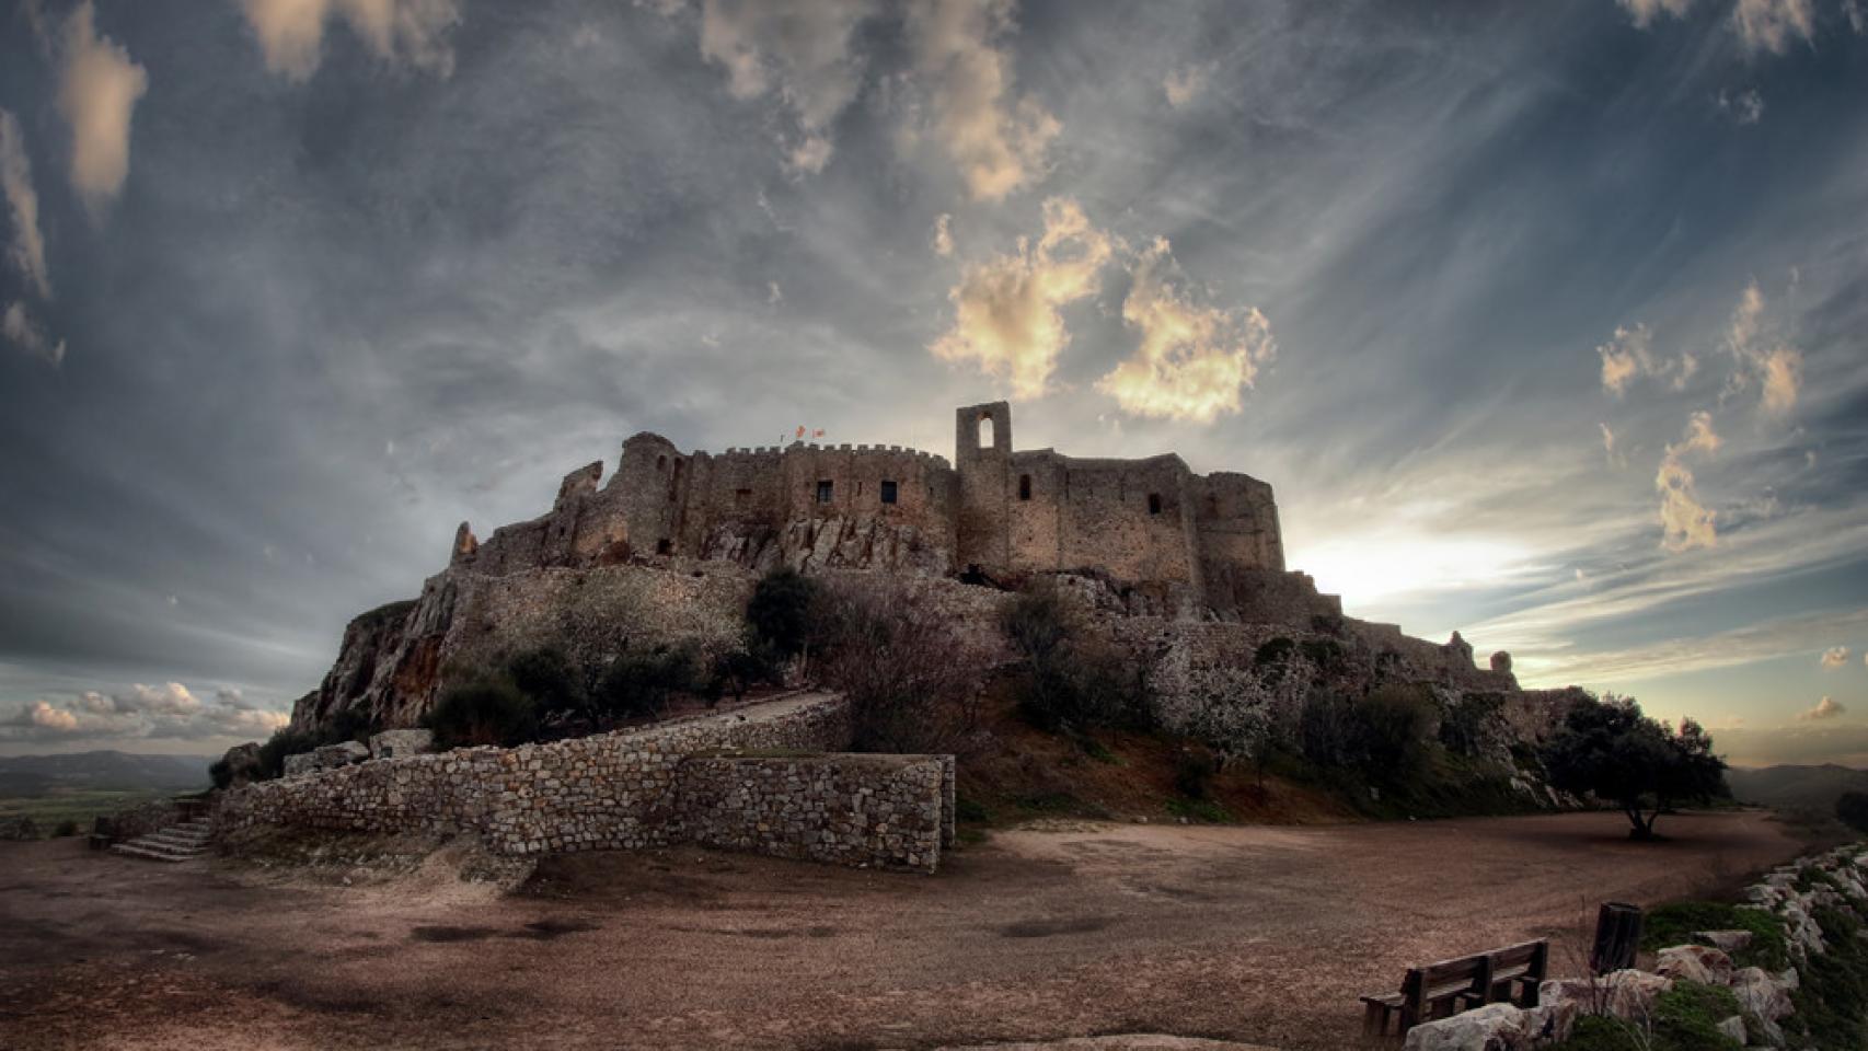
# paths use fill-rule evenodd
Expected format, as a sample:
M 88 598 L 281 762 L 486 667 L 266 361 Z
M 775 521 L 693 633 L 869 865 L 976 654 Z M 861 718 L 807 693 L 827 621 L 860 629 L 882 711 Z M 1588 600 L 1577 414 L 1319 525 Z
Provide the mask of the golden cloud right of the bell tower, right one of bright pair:
M 1136 416 L 1207 424 L 1237 413 L 1240 390 L 1278 349 L 1265 315 L 1196 304 L 1166 237 L 1156 237 L 1130 271 L 1123 321 L 1141 334 L 1141 345 L 1097 390 Z

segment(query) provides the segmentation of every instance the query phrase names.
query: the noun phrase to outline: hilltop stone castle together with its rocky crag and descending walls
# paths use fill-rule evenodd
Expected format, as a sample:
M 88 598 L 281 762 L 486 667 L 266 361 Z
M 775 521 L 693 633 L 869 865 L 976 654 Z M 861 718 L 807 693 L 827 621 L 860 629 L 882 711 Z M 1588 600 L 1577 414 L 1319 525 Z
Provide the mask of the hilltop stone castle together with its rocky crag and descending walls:
M 1429 683 L 1448 713 L 1485 700 L 1474 747 L 1500 764 L 1567 709 L 1571 694 L 1519 691 L 1506 653 L 1478 666 L 1457 633 L 1427 642 L 1343 616 L 1334 596 L 1283 568 L 1261 482 L 1197 476 L 1173 455 L 1012 452 L 1003 403 L 956 420 L 956 467 L 913 450 L 803 442 L 715 457 L 635 435 L 607 485 L 590 463 L 564 476 L 538 519 L 486 540 L 461 523 L 418 597 L 344 629 L 293 728 L 357 717 L 411 726 L 448 683 L 538 646 L 585 668 L 644 646 L 738 648 L 745 601 L 777 566 L 887 577 L 940 603 L 983 652 L 1003 650 L 996 624 L 1011 588 L 1054 579 L 1162 691 L 1250 685 L 1270 659 L 1293 668 L 1278 676 L 1291 694 L 1280 704 L 1311 685 L 1360 694 Z

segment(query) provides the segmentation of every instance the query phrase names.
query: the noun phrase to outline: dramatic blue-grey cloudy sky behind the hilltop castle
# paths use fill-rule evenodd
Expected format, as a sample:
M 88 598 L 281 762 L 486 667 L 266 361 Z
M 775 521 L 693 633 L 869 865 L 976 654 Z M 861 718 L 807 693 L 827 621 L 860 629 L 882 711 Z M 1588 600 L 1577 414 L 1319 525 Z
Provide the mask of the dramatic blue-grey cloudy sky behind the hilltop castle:
M 635 431 L 1009 398 L 1868 765 L 1868 0 L 0 4 L 0 754 L 263 737 Z

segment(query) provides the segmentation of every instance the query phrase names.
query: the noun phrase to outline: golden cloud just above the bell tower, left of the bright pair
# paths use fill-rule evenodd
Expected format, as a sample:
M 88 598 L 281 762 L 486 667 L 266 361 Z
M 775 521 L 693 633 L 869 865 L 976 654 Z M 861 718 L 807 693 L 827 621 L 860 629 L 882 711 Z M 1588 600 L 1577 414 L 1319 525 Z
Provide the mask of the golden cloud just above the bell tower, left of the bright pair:
M 1011 381 L 1018 398 L 1044 394 L 1057 355 L 1070 342 L 1063 306 L 1095 295 L 1110 237 L 1067 198 L 1044 202 L 1044 235 L 1020 237 L 1009 256 L 969 263 L 947 299 L 953 327 L 934 342 L 934 357 L 975 362 Z

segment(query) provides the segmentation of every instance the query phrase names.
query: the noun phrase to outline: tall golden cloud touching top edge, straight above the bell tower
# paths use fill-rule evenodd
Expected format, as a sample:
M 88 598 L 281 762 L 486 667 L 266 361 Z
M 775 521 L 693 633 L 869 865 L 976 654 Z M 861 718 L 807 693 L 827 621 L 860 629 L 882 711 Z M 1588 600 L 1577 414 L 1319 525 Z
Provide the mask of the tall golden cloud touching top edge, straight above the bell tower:
M 1063 125 L 1037 99 L 1012 99 L 1011 0 L 928 0 L 908 7 L 913 71 L 932 136 L 973 200 L 1001 200 L 1037 181 Z

